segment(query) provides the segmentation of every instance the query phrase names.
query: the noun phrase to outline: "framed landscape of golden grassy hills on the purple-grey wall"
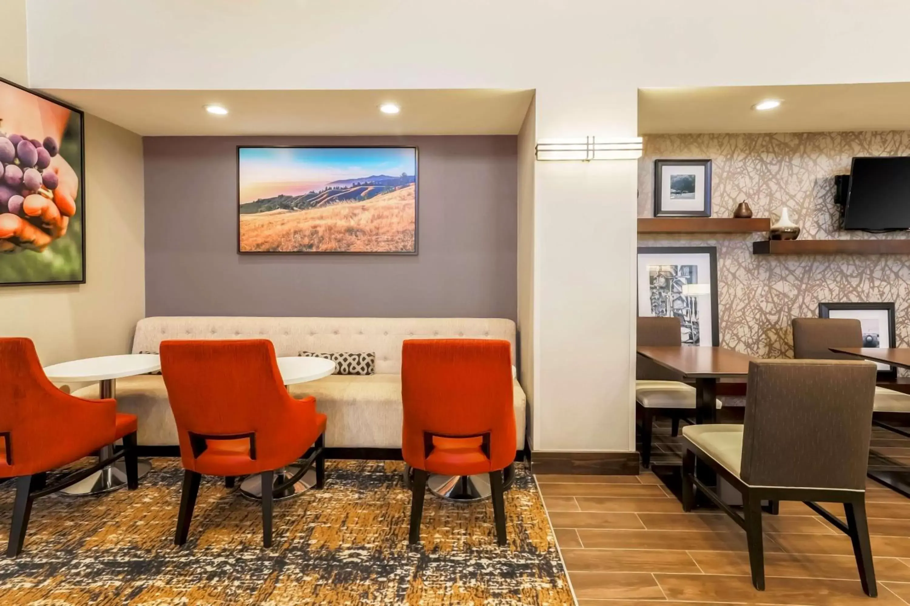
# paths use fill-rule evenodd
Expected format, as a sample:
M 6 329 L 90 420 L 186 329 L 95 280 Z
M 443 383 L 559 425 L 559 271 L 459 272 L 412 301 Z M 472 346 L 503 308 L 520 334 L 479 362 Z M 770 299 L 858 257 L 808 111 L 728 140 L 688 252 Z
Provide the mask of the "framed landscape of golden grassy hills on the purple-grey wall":
M 417 254 L 416 147 L 238 146 L 238 253 Z

